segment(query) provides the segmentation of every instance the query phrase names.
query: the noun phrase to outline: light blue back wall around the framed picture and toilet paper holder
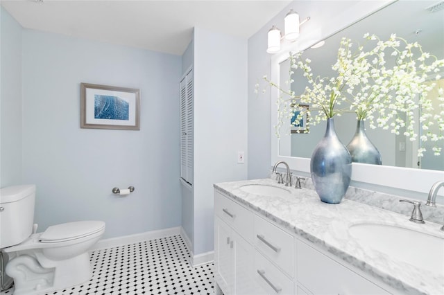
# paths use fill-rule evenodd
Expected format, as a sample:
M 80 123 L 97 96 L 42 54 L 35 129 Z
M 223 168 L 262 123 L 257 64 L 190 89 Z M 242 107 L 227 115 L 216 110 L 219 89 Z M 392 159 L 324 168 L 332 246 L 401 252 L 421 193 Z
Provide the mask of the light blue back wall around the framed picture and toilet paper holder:
M 24 30 L 22 64 L 23 180 L 37 185 L 40 231 L 76 220 L 105 221 L 104 238 L 180 226 L 181 57 Z M 80 82 L 140 89 L 140 130 L 81 129 Z

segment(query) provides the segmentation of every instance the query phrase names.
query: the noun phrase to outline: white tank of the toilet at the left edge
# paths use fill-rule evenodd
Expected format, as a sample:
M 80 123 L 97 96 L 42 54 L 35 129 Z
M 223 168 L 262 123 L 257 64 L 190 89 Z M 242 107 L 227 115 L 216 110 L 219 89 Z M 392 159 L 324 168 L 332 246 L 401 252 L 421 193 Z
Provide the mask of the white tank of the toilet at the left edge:
M 0 189 L 0 249 L 20 244 L 33 232 L 35 185 Z

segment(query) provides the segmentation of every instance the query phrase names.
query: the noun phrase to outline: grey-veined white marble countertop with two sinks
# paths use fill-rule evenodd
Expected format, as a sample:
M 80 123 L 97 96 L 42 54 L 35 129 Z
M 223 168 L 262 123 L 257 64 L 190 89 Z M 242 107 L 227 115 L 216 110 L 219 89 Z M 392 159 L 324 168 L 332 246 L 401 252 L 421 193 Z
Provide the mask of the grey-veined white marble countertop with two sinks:
M 289 190 L 291 194 L 269 197 L 246 193 L 240 189 L 241 186 L 248 184 L 278 186 Z M 443 274 L 433 274 L 431 271 L 418 269 L 385 253 L 364 247 L 350 235 L 348 230 L 353 224 L 382 223 L 444 238 L 444 233 L 439 231 L 439 224 L 432 222 L 415 224 L 409 222 L 408 216 L 348 199 L 343 199 L 341 204 L 326 204 L 321 202 L 314 190 L 286 187 L 277 184 L 273 179 L 225 182 L 214 184 L 214 188 L 365 271 L 366 274 L 384 281 L 402 294 L 444 294 Z M 412 255 L 417 251 L 419 250 L 412 249 Z

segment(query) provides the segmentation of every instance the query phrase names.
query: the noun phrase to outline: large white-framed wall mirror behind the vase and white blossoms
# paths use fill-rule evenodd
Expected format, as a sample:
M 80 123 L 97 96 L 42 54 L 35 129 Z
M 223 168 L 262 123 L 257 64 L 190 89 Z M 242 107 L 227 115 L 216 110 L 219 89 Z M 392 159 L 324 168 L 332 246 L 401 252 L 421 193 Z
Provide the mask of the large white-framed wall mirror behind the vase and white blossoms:
M 329 76 L 332 73 L 331 66 L 336 61 L 336 54 L 342 37 L 350 37 L 353 42 L 361 42 L 364 33 L 375 34 L 382 39 L 388 39 L 391 33 L 396 33 L 409 42 L 417 41 L 422 45 L 424 51 L 443 59 L 444 9 L 435 12 L 427 10 L 436 3 L 437 1 L 403 0 L 384 3 L 382 8 L 375 9 L 376 11 L 370 12 L 370 14 L 367 12 L 365 17 L 363 16 L 359 21 L 352 21 L 353 23 L 350 26 L 338 28 L 339 31 L 325 38 L 323 46 L 311 48 L 315 44 L 312 43 L 308 47 L 298 48 L 295 45 L 293 48 L 289 48 L 288 51 L 303 50 L 302 56 L 311 59 L 312 72 L 315 75 Z M 316 42 L 319 40 L 316 40 Z M 288 57 L 288 53 L 287 55 L 285 53 L 278 55 L 272 61 L 272 78 L 275 81 L 278 80 L 280 85 L 287 85 L 285 83 L 289 80 L 289 61 L 286 56 Z M 441 73 L 441 75 L 444 77 L 444 73 Z M 292 78 L 294 82 L 291 84 L 291 90 L 295 91 L 296 94 L 301 93 L 306 86 L 306 79 L 302 76 L 298 77 L 298 75 L 294 75 Z M 441 83 L 444 84 L 444 79 L 441 80 Z M 278 93 L 274 93 L 274 98 L 278 95 Z M 276 116 L 276 114 L 273 114 L 273 106 L 271 116 L 272 124 L 276 125 L 277 119 L 273 118 L 273 116 Z M 335 125 L 339 138 L 347 145 L 355 134 L 355 114 L 345 114 L 335 118 Z M 309 157 L 311 157 L 311 152 L 325 133 L 325 124 L 310 127 L 309 134 L 291 133 L 289 130 L 289 125 L 284 125 L 280 130 L 279 140 L 275 139 L 276 136 L 273 134 L 272 139 L 276 143 L 273 144 L 272 161 L 290 161 L 293 166 L 297 167 L 296 170 L 309 172 Z M 382 129 L 367 127 L 366 131 L 370 140 L 373 141 L 382 154 L 382 166 L 373 168 L 370 165 L 354 163 L 352 179 L 355 182 L 363 182 L 369 184 L 370 187 L 373 184 L 391 186 L 390 182 L 378 180 L 378 177 L 369 177 L 369 175 L 377 173 L 397 178 L 393 177 L 393 173 L 395 173 L 405 182 L 409 182 L 410 177 L 412 177 L 411 181 L 413 182 L 421 181 L 422 178 L 428 179 L 426 184 L 422 186 L 403 186 L 401 184 L 403 181 L 399 181 L 398 185 L 393 186 L 402 190 L 426 193 L 435 181 L 444 180 L 444 173 L 442 172 L 444 170 L 444 152 L 441 153 L 441 156 L 434 156 L 431 151 L 432 148 L 427 146 L 428 143 L 424 143 L 428 152 L 425 153 L 425 157 L 418 158 L 417 150 L 420 142 L 411 142 L 405 136 L 395 136 Z M 444 143 L 441 141 L 440 144 L 444 150 Z

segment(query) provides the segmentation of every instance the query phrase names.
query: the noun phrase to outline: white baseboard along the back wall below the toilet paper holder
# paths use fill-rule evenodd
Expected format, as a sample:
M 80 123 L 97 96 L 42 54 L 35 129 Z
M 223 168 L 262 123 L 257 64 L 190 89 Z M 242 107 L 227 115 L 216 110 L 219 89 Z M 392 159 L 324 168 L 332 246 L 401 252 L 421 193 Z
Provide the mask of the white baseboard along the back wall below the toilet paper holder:
M 135 233 L 134 235 L 123 235 L 117 238 L 103 239 L 99 240 L 90 251 L 165 238 L 170 235 L 180 235 L 180 229 L 181 226 L 177 226 L 169 229 L 160 229 L 158 231 L 146 231 L 145 233 Z

